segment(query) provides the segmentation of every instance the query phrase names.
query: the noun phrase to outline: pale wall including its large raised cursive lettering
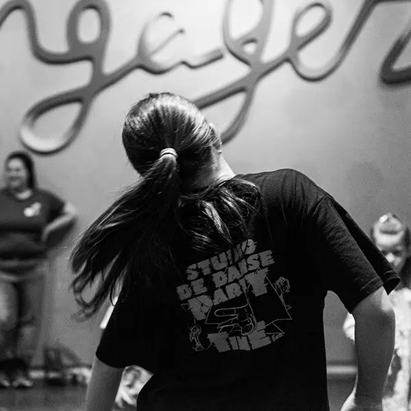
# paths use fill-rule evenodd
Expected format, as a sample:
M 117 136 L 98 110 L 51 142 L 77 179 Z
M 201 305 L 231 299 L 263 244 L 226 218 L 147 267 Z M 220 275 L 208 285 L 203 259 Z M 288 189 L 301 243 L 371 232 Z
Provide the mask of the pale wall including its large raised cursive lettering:
M 235 171 L 299 169 L 364 229 L 411 222 L 410 21 L 406 0 L 0 0 L 0 161 L 24 145 L 80 214 L 52 251 L 42 342 L 92 359 L 101 317 L 71 319 L 66 258 L 134 181 L 121 124 L 152 90 L 195 99 Z M 326 309 L 329 361 L 351 362 L 345 310 Z

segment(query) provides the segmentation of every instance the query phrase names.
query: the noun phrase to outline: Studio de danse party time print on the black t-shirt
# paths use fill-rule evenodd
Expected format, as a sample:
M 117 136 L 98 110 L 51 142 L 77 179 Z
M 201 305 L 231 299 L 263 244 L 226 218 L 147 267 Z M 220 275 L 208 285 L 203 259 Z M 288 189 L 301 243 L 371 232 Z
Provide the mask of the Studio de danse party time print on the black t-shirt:
M 195 351 L 258 349 L 284 336 L 276 323 L 291 319 L 290 284 L 269 279 L 272 264 L 271 250 L 256 253 L 256 242 L 247 240 L 234 257 L 227 251 L 188 267 L 177 294 L 194 317 L 188 338 Z

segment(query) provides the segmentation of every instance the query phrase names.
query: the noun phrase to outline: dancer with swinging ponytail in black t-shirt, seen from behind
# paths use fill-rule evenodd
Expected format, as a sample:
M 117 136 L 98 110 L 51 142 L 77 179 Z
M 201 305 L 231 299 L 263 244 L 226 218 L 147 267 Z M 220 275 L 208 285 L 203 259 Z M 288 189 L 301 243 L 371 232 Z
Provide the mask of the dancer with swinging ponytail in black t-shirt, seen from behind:
M 329 410 L 328 290 L 358 328 L 358 380 L 343 410 L 379 410 L 398 277 L 334 198 L 291 169 L 236 175 L 215 127 L 170 93 L 129 110 L 123 145 L 140 179 L 72 256 L 84 317 L 121 288 L 86 410 L 111 410 L 132 364 L 153 373 L 138 411 Z

